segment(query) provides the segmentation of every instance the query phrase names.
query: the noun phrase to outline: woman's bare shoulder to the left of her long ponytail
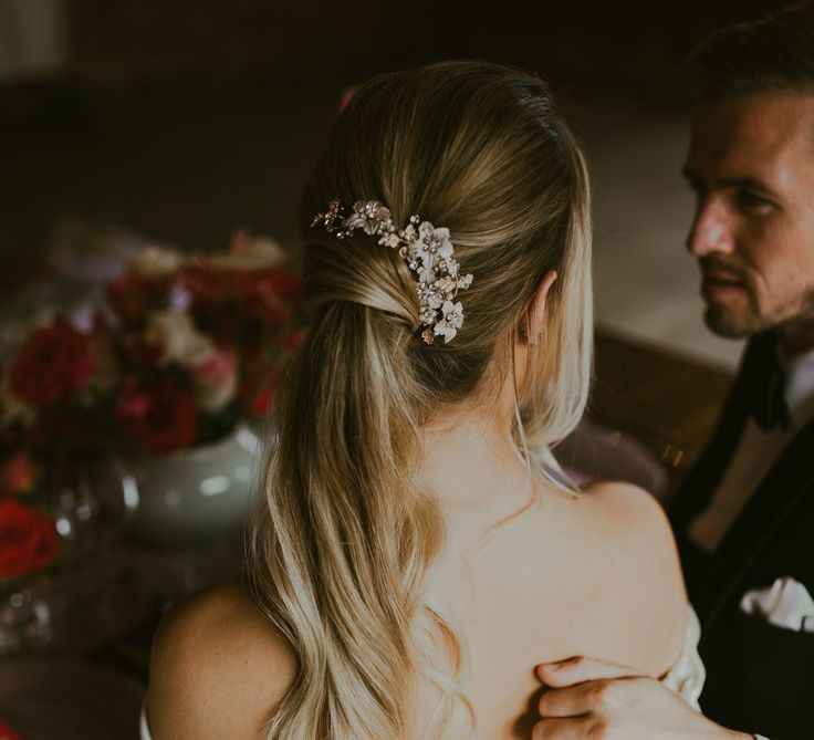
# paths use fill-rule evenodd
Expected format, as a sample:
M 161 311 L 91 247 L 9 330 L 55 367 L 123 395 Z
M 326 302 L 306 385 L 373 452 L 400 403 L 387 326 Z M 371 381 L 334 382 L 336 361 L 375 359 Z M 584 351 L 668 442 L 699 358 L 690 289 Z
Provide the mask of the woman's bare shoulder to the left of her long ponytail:
M 295 675 L 291 646 L 238 584 L 196 594 L 170 609 L 153 643 L 154 740 L 264 738 Z

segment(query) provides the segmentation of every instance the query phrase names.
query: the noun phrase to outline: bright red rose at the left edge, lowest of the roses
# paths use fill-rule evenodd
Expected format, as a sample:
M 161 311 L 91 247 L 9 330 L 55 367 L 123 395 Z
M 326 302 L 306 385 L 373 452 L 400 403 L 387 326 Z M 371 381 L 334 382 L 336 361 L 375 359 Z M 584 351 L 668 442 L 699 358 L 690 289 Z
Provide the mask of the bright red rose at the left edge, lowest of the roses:
M 50 565 L 59 548 L 50 517 L 10 497 L 0 500 L 0 577 L 24 575 Z

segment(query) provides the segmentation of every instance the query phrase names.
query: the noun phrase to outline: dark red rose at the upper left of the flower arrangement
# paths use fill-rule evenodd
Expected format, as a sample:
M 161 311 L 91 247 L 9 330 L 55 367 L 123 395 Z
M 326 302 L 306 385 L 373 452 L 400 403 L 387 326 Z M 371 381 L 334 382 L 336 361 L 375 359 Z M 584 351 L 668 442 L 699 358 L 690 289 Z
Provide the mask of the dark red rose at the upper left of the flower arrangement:
M 36 330 L 11 365 L 11 392 L 32 406 L 50 406 L 87 387 L 95 358 L 91 338 L 62 316 Z

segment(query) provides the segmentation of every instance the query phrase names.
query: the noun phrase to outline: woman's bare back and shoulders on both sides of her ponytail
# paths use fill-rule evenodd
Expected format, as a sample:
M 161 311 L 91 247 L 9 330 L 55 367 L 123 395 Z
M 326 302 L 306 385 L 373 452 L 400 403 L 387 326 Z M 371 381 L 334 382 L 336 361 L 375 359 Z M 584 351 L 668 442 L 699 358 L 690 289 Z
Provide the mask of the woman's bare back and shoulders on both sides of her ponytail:
M 536 510 L 460 552 L 447 572 L 478 740 L 531 737 L 539 663 L 591 655 L 658 676 L 680 652 L 686 597 L 669 525 L 649 494 L 603 483 L 578 498 L 546 487 L 540 496 Z M 465 542 L 490 517 L 453 514 L 450 529 Z M 170 615 L 154 648 L 153 740 L 264 738 L 295 671 L 293 650 L 246 594 L 199 595 Z

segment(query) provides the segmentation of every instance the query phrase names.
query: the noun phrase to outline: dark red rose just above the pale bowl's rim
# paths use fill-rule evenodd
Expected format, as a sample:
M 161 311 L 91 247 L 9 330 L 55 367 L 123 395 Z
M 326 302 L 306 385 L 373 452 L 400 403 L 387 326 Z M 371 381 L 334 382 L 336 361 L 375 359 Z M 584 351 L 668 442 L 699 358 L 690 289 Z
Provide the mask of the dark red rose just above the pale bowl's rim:
M 167 376 L 146 387 L 139 387 L 134 379 L 125 382 L 116 417 L 152 455 L 189 447 L 198 427 L 195 399 Z

